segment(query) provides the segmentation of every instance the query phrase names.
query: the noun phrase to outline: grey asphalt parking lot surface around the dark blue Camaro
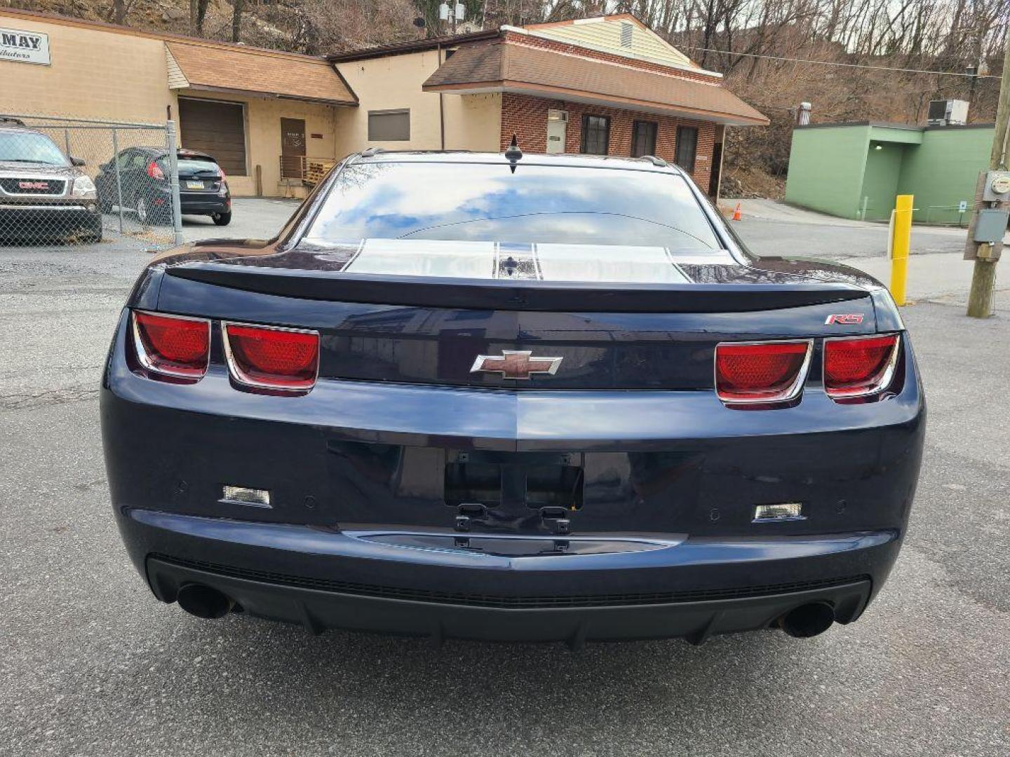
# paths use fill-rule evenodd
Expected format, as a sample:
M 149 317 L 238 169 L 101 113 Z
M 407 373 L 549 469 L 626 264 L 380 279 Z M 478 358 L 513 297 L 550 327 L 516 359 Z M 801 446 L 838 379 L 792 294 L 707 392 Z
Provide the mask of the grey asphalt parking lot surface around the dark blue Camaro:
M 236 206 L 232 226 L 188 233 L 269 236 L 293 210 Z M 738 230 L 758 246 L 773 223 Z M 826 229 L 797 251 L 847 256 L 844 230 Z M 204 622 L 149 594 L 109 513 L 97 410 L 114 319 L 148 257 L 0 247 L 0 754 L 1010 751 L 1010 311 L 977 321 L 928 298 L 904 311 L 926 454 L 901 558 L 857 623 L 700 648 L 436 650 Z

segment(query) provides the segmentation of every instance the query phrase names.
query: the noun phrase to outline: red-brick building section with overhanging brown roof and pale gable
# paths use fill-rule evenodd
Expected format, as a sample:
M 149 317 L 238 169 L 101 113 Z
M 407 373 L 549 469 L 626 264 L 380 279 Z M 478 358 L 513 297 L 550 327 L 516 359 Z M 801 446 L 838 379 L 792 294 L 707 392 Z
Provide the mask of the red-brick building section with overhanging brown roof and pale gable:
M 718 194 L 727 125 L 768 119 L 634 16 L 504 26 L 460 44 L 426 92 L 495 94 L 499 147 L 656 155 Z

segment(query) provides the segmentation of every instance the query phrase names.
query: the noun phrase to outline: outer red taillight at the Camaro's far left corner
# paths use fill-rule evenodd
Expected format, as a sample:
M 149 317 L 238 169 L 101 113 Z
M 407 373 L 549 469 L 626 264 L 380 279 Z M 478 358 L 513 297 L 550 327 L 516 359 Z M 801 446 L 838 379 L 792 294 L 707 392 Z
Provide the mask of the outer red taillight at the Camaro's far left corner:
M 133 343 L 147 370 L 196 381 L 210 361 L 210 321 L 134 311 Z

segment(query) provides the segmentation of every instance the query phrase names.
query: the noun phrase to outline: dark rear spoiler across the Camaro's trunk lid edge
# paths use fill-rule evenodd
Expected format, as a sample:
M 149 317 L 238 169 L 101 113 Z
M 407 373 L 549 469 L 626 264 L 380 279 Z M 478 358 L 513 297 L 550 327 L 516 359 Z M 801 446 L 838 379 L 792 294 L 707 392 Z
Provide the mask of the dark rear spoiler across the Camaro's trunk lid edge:
M 858 300 L 862 287 L 795 284 L 614 284 L 418 278 L 198 262 L 169 276 L 304 300 L 558 313 L 745 313 Z

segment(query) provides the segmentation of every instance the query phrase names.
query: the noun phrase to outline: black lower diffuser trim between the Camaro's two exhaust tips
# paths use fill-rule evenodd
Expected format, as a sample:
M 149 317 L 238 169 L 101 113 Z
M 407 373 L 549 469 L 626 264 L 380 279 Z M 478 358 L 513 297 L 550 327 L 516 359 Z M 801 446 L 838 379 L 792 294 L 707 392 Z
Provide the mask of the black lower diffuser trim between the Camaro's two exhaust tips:
M 700 644 L 717 634 L 773 626 L 789 611 L 812 603 L 832 606 L 839 623 L 860 616 L 869 602 L 868 578 L 825 582 L 812 588 L 729 599 L 643 605 L 488 607 L 430 602 L 382 593 L 349 593 L 286 582 L 285 576 L 250 577 L 150 557 L 147 578 L 160 600 L 174 602 L 179 587 L 198 583 L 221 591 L 243 612 L 326 629 L 424 636 L 433 641 L 472 639 L 510 642 L 617 641 L 684 637 Z

